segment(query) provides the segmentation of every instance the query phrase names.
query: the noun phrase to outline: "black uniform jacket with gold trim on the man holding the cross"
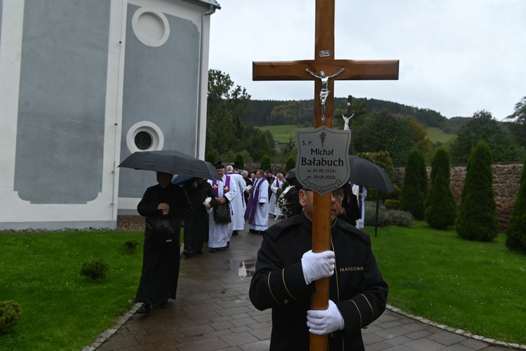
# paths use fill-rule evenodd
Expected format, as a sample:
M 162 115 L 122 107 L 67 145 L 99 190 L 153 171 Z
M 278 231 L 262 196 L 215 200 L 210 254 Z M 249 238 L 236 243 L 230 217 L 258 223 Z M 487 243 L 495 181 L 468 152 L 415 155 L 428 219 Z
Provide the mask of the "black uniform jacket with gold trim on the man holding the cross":
M 301 259 L 312 248 L 311 233 L 312 222 L 302 213 L 263 234 L 250 300 L 258 310 L 272 308 L 270 350 L 309 350 L 306 311 L 314 285 L 305 283 Z M 360 329 L 384 312 L 389 289 L 368 234 L 336 220 L 330 245 L 336 258 L 330 299 L 342 313 L 345 327 L 328 336 L 329 350 L 364 350 Z

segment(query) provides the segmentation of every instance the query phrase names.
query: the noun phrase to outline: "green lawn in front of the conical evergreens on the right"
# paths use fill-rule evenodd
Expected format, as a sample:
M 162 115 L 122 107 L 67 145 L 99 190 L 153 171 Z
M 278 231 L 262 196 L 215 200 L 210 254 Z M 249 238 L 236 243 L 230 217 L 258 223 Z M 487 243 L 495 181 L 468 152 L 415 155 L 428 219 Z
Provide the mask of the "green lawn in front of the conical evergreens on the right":
M 454 230 L 366 227 L 389 305 L 455 329 L 526 344 L 526 256 L 504 234 L 493 242 L 460 239 Z

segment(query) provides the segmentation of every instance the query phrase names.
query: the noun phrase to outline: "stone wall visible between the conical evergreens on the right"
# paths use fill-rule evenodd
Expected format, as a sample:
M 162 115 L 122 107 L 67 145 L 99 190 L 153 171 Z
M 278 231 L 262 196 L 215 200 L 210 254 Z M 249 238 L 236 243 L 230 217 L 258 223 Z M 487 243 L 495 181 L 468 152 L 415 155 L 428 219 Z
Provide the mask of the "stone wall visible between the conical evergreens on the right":
M 400 187 L 403 186 L 404 167 L 395 167 L 395 183 Z M 513 210 L 513 204 L 517 199 L 520 186 L 520 173 L 522 172 L 522 162 L 496 163 L 492 165 L 493 170 L 493 191 L 495 201 L 497 202 L 497 217 L 501 232 L 508 228 L 508 221 Z M 427 168 L 428 179 L 431 174 L 431 167 Z M 457 205 L 460 204 L 460 194 L 464 187 L 466 179 L 466 165 L 451 166 L 451 191 L 457 199 Z M 429 179 L 431 186 L 431 179 Z

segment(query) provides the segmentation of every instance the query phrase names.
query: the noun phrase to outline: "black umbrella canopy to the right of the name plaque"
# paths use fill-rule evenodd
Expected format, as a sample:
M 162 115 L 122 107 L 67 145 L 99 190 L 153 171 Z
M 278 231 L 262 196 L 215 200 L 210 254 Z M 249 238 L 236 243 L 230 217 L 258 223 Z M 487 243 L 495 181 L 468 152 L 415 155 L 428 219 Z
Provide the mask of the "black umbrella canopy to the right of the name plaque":
M 377 164 L 352 155 L 349 156 L 349 164 L 351 165 L 349 182 L 363 185 L 364 187 L 374 187 L 378 190 L 384 190 L 384 192 L 395 190 L 391 178 Z

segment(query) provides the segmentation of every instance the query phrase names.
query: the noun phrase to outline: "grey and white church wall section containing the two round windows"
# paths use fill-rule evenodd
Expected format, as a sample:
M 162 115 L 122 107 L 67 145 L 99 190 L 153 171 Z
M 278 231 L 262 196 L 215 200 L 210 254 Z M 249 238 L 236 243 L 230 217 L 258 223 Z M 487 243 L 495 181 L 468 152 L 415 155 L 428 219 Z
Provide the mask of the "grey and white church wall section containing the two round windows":
M 207 10 L 185 1 L 129 1 L 121 160 L 141 150 L 135 140 L 141 134 L 149 138 L 142 150 L 178 150 L 195 156 L 198 114 L 202 150 L 197 153 L 204 158 L 210 18 L 203 13 Z M 202 67 L 201 27 L 206 32 Z M 146 29 L 149 35 L 142 34 Z M 119 214 L 137 214 L 137 203 L 144 190 L 156 183 L 155 175 L 128 168 L 120 168 L 119 173 Z

